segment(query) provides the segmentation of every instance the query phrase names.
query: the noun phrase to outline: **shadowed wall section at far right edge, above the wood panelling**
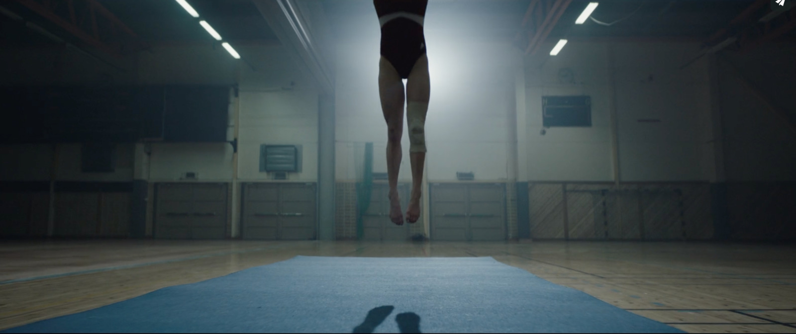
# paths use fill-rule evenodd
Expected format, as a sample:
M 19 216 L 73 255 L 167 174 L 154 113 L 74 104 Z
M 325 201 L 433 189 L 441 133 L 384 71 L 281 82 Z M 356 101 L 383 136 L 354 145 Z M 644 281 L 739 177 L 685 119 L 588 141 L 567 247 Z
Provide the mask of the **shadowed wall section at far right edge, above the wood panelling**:
M 794 56 L 796 44 L 778 43 L 728 55 L 720 62 L 728 181 L 796 181 L 796 134 L 788 129 L 788 121 L 769 107 L 790 113 L 790 122 L 796 123 Z M 762 99 L 743 84 L 738 72 Z

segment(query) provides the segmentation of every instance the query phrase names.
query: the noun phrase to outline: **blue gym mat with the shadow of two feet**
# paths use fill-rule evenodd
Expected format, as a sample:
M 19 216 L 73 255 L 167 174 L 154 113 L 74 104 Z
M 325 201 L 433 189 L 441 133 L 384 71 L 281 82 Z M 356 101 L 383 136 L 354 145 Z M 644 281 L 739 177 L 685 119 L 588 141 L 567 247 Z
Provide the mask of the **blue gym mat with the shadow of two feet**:
M 4 332 L 681 332 L 494 258 L 297 256 Z

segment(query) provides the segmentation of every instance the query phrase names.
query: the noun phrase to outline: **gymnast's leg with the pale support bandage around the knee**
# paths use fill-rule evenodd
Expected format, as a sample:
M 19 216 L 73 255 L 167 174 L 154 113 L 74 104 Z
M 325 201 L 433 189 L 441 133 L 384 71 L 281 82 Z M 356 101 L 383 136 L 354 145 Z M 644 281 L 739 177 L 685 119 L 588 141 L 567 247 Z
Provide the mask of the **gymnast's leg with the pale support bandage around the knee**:
M 409 126 L 409 160 L 412 165 L 412 194 L 409 196 L 407 220 L 416 223 L 420 218 L 420 195 L 423 183 L 423 165 L 426 161 L 425 123 L 431 80 L 428 75 L 428 57 L 425 53 L 418 58 L 406 81 L 407 109 Z

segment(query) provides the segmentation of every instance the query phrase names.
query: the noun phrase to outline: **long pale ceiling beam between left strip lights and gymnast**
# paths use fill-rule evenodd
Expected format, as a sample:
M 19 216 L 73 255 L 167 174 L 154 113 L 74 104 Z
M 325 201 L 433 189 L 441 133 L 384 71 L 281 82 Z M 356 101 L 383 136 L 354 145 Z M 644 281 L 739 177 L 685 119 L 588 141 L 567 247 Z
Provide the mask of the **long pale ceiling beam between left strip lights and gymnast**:
M 297 0 L 252 0 L 279 41 L 293 53 L 298 68 L 314 79 L 323 95 L 334 95 L 334 79 Z

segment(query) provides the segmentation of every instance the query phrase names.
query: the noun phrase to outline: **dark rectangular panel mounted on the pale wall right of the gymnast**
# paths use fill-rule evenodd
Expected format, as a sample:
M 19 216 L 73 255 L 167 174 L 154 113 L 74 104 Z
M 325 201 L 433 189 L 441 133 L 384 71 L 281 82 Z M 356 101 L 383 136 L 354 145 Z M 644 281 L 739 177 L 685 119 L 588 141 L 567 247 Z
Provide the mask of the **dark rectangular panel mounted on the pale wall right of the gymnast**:
M 542 126 L 591 126 L 591 97 L 543 96 Z

